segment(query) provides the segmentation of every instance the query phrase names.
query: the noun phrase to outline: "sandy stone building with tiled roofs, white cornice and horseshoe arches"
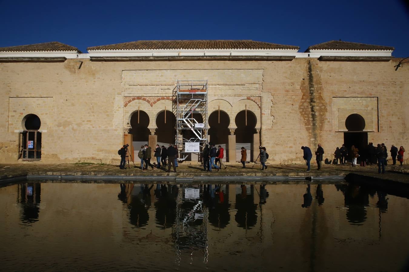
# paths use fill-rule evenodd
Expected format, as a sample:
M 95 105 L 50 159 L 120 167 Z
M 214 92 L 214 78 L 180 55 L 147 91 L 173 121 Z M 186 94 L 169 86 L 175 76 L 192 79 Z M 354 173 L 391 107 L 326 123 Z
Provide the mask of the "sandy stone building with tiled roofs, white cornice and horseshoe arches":
M 298 51 L 254 41 L 0 48 L 0 163 L 117 163 L 124 142 L 172 143 L 177 80 L 207 80 L 209 140 L 225 144 L 229 162 L 241 144 L 248 160 L 261 145 L 280 164 L 318 143 L 329 161 L 344 142 L 408 146 L 409 66 L 393 47 Z

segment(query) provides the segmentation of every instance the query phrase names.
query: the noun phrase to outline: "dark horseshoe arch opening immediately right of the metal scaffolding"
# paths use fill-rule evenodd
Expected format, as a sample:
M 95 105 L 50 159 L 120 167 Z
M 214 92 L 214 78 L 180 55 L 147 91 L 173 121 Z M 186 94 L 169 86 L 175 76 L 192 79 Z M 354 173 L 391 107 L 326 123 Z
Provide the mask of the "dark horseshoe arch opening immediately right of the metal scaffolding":
M 216 144 L 217 146 L 222 146 L 224 148 L 224 159 L 226 161 L 228 152 L 227 143 L 229 142 L 229 124 L 230 118 L 224 111 L 213 111 L 209 115 L 209 131 L 207 133 L 210 136 L 210 142 Z

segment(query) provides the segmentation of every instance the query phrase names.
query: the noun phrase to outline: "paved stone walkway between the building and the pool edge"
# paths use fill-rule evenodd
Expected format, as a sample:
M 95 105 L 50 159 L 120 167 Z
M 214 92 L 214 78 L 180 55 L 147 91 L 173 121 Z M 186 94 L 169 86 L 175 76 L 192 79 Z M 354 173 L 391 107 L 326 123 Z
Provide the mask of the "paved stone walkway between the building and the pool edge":
M 227 169 L 212 172 L 206 172 L 201 166 L 190 164 L 179 164 L 177 173 L 166 172 L 164 169 L 155 169 L 151 171 L 142 171 L 139 168 L 131 166 L 129 169 L 119 169 L 117 165 L 109 164 L 0 164 L 0 183 L 5 178 L 19 177 L 25 175 L 76 175 L 76 176 L 177 176 L 177 177 L 197 177 L 197 176 L 259 176 L 259 177 L 323 177 L 323 176 L 346 176 L 349 173 L 364 175 L 369 177 L 378 177 L 393 181 L 399 181 L 409 184 L 409 166 L 387 166 L 387 173 L 378 174 L 378 166 L 366 167 L 351 167 L 347 165 L 327 165 L 325 164 L 321 170 L 311 168 L 311 172 L 306 172 L 306 166 L 301 164 L 292 165 L 268 165 L 267 170 L 260 170 L 260 165 L 256 164 L 252 168 L 253 163 L 247 164 L 245 169 L 241 168 L 241 164 L 227 165 Z M 316 167 L 316 166 L 315 166 Z

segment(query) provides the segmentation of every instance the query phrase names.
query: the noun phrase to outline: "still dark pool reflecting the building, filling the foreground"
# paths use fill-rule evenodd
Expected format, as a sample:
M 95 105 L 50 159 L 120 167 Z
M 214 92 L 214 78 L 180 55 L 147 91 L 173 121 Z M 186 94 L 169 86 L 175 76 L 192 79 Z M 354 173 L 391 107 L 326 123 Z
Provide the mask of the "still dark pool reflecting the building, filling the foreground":
M 399 271 L 409 199 L 334 183 L 0 188 L 2 271 Z

